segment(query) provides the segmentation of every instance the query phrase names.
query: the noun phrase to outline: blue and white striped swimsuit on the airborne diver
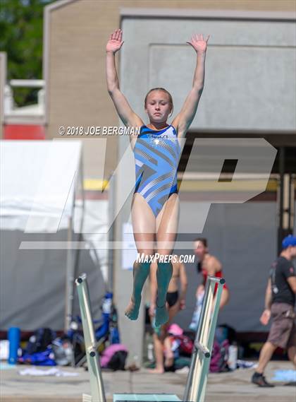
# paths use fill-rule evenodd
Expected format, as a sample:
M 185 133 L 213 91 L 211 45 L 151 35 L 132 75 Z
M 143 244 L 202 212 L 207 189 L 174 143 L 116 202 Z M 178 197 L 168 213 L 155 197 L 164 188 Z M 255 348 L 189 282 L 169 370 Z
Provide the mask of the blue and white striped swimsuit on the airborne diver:
M 177 193 L 180 144 L 173 126 L 152 130 L 142 126 L 135 148 L 135 193 L 140 193 L 155 216 L 171 194 Z

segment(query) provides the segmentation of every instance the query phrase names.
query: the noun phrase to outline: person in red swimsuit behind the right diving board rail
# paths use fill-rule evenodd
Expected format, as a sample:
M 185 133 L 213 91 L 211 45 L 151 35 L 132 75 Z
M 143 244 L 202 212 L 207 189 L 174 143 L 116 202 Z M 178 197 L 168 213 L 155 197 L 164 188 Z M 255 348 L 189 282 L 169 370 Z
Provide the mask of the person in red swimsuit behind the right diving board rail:
M 203 283 L 197 287 L 196 297 L 198 298 L 204 292 L 204 286 L 206 285 L 206 278 L 208 275 L 216 276 L 217 278 L 223 278 L 222 264 L 215 257 L 209 254 L 208 242 L 204 237 L 198 237 L 194 243 L 195 255 L 198 258 L 197 272 L 201 272 L 203 276 Z M 215 287 L 215 294 L 217 290 Z M 223 286 L 220 309 L 222 309 L 229 302 L 229 289 L 225 284 Z

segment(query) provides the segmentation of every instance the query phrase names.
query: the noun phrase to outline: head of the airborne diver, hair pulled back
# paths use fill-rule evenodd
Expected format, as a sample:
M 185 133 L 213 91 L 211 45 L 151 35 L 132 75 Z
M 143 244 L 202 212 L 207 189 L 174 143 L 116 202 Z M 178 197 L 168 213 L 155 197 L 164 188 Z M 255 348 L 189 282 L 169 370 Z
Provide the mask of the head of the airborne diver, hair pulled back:
M 145 112 L 150 122 L 166 122 L 171 113 L 171 104 L 168 94 L 162 90 L 153 90 L 147 97 Z

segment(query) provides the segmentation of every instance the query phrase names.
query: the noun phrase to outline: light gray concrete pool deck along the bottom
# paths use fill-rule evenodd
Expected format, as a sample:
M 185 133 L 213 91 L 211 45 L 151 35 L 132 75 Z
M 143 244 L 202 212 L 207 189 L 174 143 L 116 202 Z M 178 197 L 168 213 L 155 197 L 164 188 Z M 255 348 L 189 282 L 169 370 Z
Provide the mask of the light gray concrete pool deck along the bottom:
M 77 372 L 78 377 L 21 376 L 19 370 L 30 366 L 17 366 L 1 370 L 1 402 L 80 402 L 82 394 L 90 394 L 88 372 L 83 369 L 58 367 L 63 371 Z M 39 367 L 49 370 L 48 367 Z M 270 362 L 266 377 L 270 380 L 274 370 L 292 369 L 289 362 Z M 209 374 L 206 402 L 296 402 L 296 387 L 276 383 L 275 388 L 261 389 L 250 383 L 253 370 Z M 183 398 L 186 372 L 149 374 L 142 368 L 137 372 L 102 372 L 107 401 L 115 393 L 167 393 Z

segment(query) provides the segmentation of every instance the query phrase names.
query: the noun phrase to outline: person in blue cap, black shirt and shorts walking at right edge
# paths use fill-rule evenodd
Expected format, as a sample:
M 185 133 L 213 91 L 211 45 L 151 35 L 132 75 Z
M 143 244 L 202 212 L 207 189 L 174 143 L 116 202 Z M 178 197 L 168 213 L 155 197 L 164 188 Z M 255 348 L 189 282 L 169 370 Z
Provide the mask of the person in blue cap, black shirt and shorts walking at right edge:
M 264 370 L 276 348 L 288 349 L 288 357 L 296 368 L 295 293 L 296 270 L 292 259 L 296 257 L 296 237 L 283 240 L 283 251 L 273 262 L 265 295 L 265 310 L 260 321 L 267 325 L 272 319 L 266 343 L 261 348 L 259 364 L 252 382 L 259 386 L 274 386 L 266 381 Z

